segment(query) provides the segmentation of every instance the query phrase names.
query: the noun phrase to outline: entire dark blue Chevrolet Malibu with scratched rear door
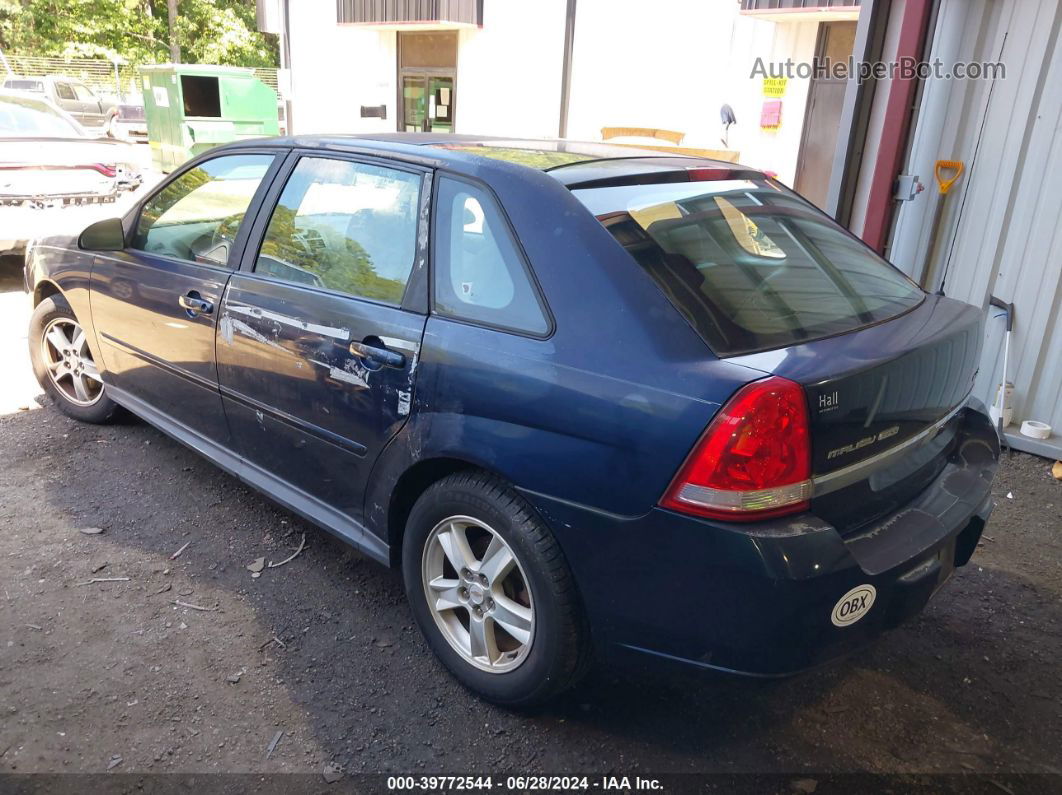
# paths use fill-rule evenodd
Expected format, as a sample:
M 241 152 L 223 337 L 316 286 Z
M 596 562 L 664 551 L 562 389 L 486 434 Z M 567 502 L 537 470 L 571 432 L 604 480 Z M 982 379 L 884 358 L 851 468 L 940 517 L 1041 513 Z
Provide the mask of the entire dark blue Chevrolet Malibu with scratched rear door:
M 849 653 L 974 552 L 981 312 L 765 174 L 455 136 L 222 146 L 28 255 L 57 407 L 381 563 L 464 685 Z

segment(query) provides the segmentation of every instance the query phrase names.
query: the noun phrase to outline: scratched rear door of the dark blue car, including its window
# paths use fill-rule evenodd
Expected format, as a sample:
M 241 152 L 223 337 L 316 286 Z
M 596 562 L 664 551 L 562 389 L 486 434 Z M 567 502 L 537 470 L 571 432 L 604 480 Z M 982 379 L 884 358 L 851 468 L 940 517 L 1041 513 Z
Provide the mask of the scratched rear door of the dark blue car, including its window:
M 388 161 L 292 155 L 225 293 L 218 377 L 234 440 L 304 513 L 357 521 L 373 462 L 409 415 L 429 184 Z

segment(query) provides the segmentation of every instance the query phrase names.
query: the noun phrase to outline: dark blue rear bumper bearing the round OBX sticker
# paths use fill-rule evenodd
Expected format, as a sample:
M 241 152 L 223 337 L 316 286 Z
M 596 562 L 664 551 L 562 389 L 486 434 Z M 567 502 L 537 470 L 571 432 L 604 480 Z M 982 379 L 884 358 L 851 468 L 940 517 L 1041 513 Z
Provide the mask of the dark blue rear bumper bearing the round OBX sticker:
M 781 676 L 850 654 L 925 606 L 977 546 L 998 450 L 987 415 L 964 409 L 930 485 L 846 537 L 811 514 L 750 525 L 660 508 L 622 519 L 528 497 L 575 570 L 601 652 Z M 873 605 L 835 625 L 841 597 L 864 585 Z

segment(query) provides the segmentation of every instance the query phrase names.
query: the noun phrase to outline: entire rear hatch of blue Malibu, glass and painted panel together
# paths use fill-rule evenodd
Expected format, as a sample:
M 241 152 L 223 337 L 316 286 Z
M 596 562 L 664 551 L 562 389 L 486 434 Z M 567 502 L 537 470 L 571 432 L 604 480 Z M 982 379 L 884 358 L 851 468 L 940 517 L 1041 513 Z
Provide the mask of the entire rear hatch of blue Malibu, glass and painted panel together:
M 763 174 L 684 162 L 568 187 L 716 356 L 804 387 L 812 511 L 845 531 L 894 511 L 952 451 L 981 313 Z

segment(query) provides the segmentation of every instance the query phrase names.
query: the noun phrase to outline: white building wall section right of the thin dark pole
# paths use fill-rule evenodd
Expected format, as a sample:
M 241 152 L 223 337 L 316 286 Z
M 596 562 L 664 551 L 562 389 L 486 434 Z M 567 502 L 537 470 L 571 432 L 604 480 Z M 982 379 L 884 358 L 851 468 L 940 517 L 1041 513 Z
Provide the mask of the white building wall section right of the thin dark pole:
M 600 140 L 601 127 L 660 127 L 686 134 L 684 146 L 723 149 L 719 109 L 734 108 L 730 149 L 748 166 L 791 185 L 808 80 L 790 80 L 782 125 L 761 129 L 765 62 L 809 62 L 817 22 L 776 23 L 715 0 L 580 0 L 568 136 Z

